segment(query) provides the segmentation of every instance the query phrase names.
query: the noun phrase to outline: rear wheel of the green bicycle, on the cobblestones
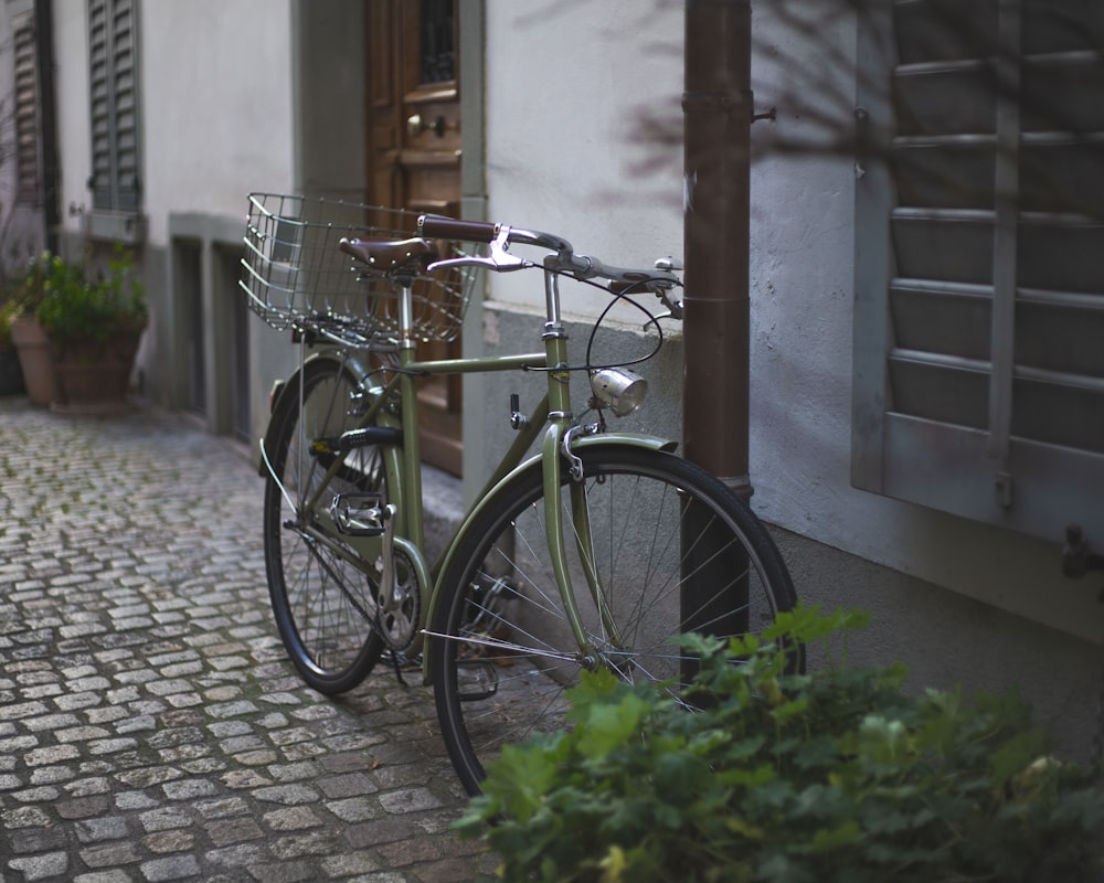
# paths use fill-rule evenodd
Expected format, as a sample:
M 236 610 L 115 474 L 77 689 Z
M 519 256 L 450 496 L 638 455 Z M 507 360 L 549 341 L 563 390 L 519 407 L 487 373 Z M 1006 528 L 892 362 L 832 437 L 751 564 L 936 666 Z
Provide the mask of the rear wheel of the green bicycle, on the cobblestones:
M 276 628 L 302 680 L 328 695 L 361 683 L 383 649 L 372 621 L 376 584 L 297 530 L 307 520 L 326 523 L 304 511 L 308 491 L 317 488 L 326 472 L 325 456 L 310 454 L 309 445 L 354 427 L 351 403 L 363 398 L 351 394 L 360 392 L 352 373 L 339 362 L 308 362 L 276 405 L 266 450 L 265 568 Z M 368 491 L 386 491 L 374 446 L 347 455 L 315 511 L 325 512 L 337 493 Z M 329 531 L 329 536 L 342 543 L 337 531 Z

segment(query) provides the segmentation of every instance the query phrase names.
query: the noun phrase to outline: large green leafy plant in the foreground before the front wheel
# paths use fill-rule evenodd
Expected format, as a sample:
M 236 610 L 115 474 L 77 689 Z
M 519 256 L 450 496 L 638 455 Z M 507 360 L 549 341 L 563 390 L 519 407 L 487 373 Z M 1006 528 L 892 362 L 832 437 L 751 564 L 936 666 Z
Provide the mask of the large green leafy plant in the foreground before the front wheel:
M 1076 880 L 1104 794 L 1015 695 L 909 694 L 901 666 L 786 673 L 779 646 L 864 619 L 688 636 L 681 692 L 584 675 L 571 730 L 507 747 L 456 828 L 507 881 Z

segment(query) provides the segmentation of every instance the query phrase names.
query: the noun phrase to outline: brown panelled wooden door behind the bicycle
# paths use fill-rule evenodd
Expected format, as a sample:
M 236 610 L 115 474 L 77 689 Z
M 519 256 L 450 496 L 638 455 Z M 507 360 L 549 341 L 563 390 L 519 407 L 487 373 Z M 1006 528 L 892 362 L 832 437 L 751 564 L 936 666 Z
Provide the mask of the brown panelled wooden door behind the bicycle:
M 459 216 L 460 104 L 456 0 L 369 0 L 368 163 L 371 203 Z M 412 231 L 413 232 L 413 231 Z M 418 355 L 460 354 L 459 340 Z M 460 474 L 460 379 L 418 390 L 422 456 Z

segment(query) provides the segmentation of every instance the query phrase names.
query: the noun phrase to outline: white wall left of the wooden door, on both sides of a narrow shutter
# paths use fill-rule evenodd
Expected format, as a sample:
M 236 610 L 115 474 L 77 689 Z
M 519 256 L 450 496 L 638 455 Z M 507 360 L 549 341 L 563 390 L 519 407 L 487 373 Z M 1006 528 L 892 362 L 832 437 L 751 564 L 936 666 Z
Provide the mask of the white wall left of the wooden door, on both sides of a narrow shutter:
M 64 228 L 91 208 L 86 7 L 55 2 Z M 170 212 L 245 214 L 254 187 L 291 185 L 290 0 L 138 4 L 147 242 Z

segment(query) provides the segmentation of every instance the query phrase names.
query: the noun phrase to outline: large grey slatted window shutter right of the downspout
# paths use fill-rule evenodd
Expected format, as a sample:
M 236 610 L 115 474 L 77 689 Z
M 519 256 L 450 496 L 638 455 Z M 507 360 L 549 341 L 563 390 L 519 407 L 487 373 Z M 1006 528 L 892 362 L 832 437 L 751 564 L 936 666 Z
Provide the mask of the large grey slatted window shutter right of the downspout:
M 853 483 L 1052 540 L 1080 523 L 1102 543 L 1104 4 L 873 8 Z

